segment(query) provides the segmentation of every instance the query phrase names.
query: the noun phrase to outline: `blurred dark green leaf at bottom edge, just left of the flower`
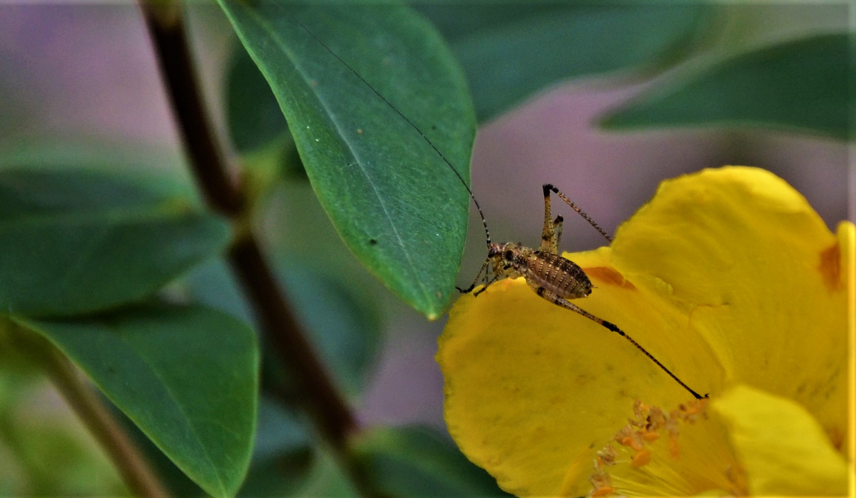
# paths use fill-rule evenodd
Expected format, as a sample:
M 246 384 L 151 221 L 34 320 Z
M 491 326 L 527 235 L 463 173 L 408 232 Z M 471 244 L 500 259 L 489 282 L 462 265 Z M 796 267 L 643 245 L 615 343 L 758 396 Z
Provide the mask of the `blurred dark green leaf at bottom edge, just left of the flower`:
M 366 431 L 355 447 L 372 484 L 389 496 L 510 496 L 455 443 L 425 426 Z

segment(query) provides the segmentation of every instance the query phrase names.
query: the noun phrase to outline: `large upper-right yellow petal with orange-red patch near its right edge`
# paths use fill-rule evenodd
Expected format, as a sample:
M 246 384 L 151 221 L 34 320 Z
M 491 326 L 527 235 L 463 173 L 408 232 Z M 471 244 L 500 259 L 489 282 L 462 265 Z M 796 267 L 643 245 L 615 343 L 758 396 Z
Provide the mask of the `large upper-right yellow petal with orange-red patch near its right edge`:
M 664 181 L 618 230 L 611 261 L 628 278 L 654 276 L 673 289 L 727 385 L 797 400 L 841 448 L 853 271 L 853 246 L 842 244 L 852 233 L 842 222 L 836 238 L 768 171 L 708 169 Z

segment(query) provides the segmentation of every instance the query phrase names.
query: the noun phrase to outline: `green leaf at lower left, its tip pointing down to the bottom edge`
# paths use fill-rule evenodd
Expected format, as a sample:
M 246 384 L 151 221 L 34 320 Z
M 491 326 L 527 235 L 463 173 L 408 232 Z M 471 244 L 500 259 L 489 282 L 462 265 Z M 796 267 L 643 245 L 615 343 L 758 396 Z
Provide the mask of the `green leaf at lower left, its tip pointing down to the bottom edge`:
M 86 372 L 205 492 L 233 496 L 253 449 L 259 350 L 219 311 L 140 305 L 100 317 L 12 317 Z

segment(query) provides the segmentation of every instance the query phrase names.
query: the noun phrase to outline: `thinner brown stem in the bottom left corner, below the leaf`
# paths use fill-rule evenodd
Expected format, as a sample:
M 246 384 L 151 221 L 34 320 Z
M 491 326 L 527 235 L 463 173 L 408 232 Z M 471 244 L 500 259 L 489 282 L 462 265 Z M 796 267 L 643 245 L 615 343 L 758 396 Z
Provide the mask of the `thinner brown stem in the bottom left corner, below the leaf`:
M 169 494 L 146 459 L 68 359 L 46 341 L 39 358 L 62 397 L 104 447 L 131 493 L 148 498 L 168 498 Z

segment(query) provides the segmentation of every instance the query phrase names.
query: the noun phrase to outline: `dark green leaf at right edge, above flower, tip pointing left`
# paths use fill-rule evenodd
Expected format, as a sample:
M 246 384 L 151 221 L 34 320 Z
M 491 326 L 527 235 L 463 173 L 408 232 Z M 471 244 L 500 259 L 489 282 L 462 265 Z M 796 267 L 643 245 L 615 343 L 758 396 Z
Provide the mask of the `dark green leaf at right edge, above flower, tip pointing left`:
M 848 37 L 824 34 L 731 57 L 646 92 L 601 125 L 751 126 L 853 139 Z

